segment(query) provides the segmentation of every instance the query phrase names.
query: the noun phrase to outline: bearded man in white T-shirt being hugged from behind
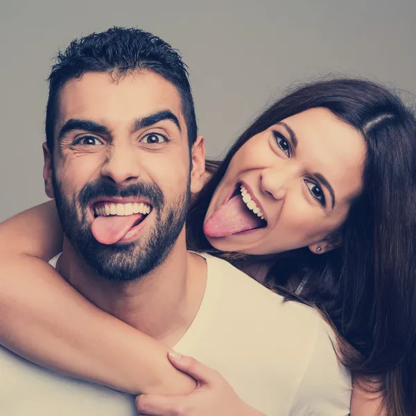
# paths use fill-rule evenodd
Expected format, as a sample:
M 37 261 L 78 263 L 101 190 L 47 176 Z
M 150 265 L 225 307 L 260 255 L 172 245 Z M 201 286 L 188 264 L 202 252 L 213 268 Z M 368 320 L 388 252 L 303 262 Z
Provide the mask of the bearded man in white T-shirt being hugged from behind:
M 65 233 L 54 266 L 90 302 L 214 367 L 266 415 L 349 413 L 349 377 L 318 313 L 187 252 L 204 146 L 168 44 L 123 28 L 73 41 L 50 77 L 44 159 Z M 0 354 L 6 415 L 136 414 L 128 395 Z M 30 403 L 10 401 L 20 390 Z

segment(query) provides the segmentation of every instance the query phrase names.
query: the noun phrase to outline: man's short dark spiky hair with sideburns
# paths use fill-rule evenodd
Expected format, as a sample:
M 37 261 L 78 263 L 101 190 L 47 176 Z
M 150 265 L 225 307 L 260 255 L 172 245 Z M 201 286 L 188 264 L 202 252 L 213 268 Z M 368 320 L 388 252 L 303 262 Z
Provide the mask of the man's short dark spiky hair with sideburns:
M 153 71 L 170 83 L 180 94 L 182 113 L 187 123 L 189 148 L 196 141 L 197 125 L 187 66 L 177 50 L 151 33 L 137 28 L 113 27 L 102 33 L 73 40 L 59 52 L 49 76 L 46 107 L 46 144 L 53 153 L 53 130 L 61 87 L 83 73 L 103 72 L 120 77 L 130 71 Z

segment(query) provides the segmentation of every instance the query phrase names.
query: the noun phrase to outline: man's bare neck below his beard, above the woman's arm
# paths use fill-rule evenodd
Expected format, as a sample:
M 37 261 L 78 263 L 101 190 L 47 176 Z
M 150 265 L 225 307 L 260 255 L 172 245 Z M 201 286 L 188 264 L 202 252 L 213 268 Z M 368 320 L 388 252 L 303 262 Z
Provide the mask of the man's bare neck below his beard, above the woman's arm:
M 184 232 L 166 260 L 135 281 L 110 281 L 92 272 L 64 240 L 58 270 L 87 300 L 168 347 L 187 331 L 205 291 L 205 259 L 188 252 Z

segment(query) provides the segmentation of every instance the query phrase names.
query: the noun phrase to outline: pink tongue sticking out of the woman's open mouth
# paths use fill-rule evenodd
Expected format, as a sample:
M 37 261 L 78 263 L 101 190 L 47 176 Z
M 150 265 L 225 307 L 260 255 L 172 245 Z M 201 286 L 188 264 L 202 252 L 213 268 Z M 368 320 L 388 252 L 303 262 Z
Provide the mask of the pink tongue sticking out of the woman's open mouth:
M 261 225 L 263 221 L 248 209 L 243 198 L 234 196 L 205 221 L 204 232 L 210 237 L 223 237 Z

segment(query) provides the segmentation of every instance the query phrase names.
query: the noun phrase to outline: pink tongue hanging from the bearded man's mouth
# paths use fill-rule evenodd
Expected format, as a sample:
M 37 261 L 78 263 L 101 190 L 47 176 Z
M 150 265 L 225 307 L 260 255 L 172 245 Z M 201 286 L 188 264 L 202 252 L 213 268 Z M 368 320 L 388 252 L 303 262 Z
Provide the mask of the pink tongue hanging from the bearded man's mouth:
M 144 214 L 98 216 L 94 218 L 91 231 L 99 243 L 114 244 L 121 240 L 142 217 Z

